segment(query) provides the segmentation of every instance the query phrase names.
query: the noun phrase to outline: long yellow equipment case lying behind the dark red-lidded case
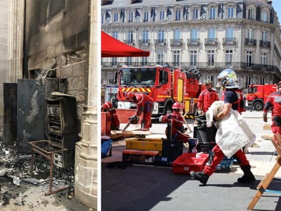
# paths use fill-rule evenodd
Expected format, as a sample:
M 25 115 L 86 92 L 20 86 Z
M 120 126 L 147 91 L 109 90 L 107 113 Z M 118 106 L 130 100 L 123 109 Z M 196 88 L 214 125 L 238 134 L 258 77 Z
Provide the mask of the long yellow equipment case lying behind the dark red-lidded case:
M 126 149 L 152 150 L 162 152 L 162 139 L 156 138 L 131 138 L 126 139 Z

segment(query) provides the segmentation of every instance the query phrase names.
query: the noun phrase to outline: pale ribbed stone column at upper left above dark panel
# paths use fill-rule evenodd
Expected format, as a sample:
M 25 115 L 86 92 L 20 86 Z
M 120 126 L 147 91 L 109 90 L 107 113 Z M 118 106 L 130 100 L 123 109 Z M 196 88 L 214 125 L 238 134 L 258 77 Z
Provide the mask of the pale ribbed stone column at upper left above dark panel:
M 9 1 L 8 82 L 23 77 L 25 1 Z

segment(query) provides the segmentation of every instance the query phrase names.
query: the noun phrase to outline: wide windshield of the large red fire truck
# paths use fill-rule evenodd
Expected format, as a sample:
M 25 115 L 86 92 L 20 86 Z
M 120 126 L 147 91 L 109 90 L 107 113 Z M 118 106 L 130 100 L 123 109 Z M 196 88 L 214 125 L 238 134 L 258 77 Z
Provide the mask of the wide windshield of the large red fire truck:
M 121 85 L 154 85 L 156 77 L 155 68 L 123 68 L 121 72 Z

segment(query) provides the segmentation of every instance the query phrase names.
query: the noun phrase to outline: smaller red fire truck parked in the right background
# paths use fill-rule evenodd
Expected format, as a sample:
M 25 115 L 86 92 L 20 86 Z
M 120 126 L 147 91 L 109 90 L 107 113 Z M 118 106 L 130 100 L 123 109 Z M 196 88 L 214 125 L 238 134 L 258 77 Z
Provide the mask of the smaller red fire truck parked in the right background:
M 276 91 L 276 84 L 249 85 L 246 95 L 246 106 L 253 107 L 253 110 L 261 111 L 267 96 Z

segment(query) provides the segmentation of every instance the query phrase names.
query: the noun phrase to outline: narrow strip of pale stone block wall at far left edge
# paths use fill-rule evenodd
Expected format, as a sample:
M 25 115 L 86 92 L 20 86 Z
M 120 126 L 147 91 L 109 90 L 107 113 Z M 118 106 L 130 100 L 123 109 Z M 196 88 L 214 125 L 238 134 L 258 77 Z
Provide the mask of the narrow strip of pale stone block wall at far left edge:
M 3 128 L 3 83 L 8 82 L 9 0 L 0 1 L 0 129 Z

